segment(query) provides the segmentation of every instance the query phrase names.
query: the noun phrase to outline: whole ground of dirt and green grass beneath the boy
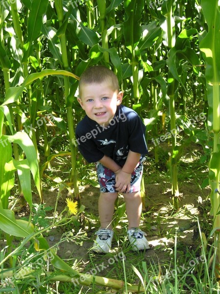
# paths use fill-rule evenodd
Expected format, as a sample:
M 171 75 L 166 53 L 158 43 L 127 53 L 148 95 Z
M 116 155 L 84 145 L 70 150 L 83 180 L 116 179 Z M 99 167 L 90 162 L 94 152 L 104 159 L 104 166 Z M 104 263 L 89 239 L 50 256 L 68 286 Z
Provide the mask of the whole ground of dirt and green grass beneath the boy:
M 215 294 L 219 293 L 219 286 L 215 279 L 212 259 L 215 255 L 212 230 L 212 218 L 209 215 L 210 201 L 208 190 L 201 189 L 201 182 L 206 175 L 207 166 L 201 166 L 199 158 L 202 150 L 186 150 L 179 165 L 179 188 L 182 190 L 180 209 L 176 212 L 172 204 L 170 191 L 169 173 L 166 169 L 166 150 L 162 157 L 161 165 L 155 165 L 153 158 L 149 157 L 145 164 L 145 189 L 146 189 L 146 212 L 141 217 L 141 227 L 148 234 L 149 243 L 154 247 L 139 254 L 133 252 L 126 240 L 127 218 L 125 205 L 119 197 L 115 211 L 115 234 L 112 252 L 108 254 L 94 254 L 89 248 L 92 245 L 94 232 L 97 230 L 98 214 L 93 202 L 87 206 L 77 222 L 61 228 L 54 228 L 45 236 L 53 236 L 60 241 L 53 243 L 57 253 L 72 268 L 83 273 L 124 281 L 126 286 L 123 290 L 113 290 L 109 287 L 95 285 L 94 280 L 89 286 L 80 283 L 50 281 L 45 276 L 48 270 L 55 270 L 51 265 L 44 265 L 36 270 L 34 277 L 16 280 L 17 293 L 43 294 L 43 293 L 72 293 L 72 294 L 102 294 L 102 293 L 152 293 L 152 294 Z M 53 164 L 53 162 L 51 162 Z M 66 174 L 68 162 L 66 159 L 56 159 L 49 175 L 54 177 Z M 94 178 L 94 169 L 88 167 Z M 83 171 L 82 171 L 83 172 Z M 83 180 L 85 177 L 82 174 Z M 44 191 L 50 190 L 50 181 L 44 182 Z M 53 183 L 50 192 L 56 197 L 58 186 Z M 97 205 L 98 189 L 91 186 L 81 187 L 82 204 L 84 199 Z M 66 192 L 62 191 L 58 201 L 58 212 L 63 210 Z M 201 197 L 200 202 L 198 201 Z M 95 198 L 96 197 L 96 198 Z M 95 198 L 95 199 L 94 199 Z M 51 200 L 55 203 L 55 199 Z M 50 205 L 51 206 L 51 205 Z M 43 207 L 44 209 L 44 207 Z M 53 212 L 41 211 L 42 221 L 52 221 Z M 59 213 L 58 213 L 59 215 Z M 33 215 L 36 219 L 37 214 Z M 38 216 L 39 217 L 39 216 Z M 40 219 L 38 218 L 38 221 Z M 192 224 L 192 225 L 191 225 Z M 152 229 L 154 227 L 154 229 Z M 156 228 L 156 230 L 155 230 Z M 80 231 L 81 229 L 81 231 Z M 87 236 L 86 236 L 87 234 Z M 76 239 L 77 238 L 77 239 Z M 71 254 L 64 257 L 64 252 L 59 248 L 68 244 Z M 85 247 L 80 246 L 83 244 Z M 4 246 L 3 246 L 4 247 Z M 20 257 L 15 260 L 15 269 L 23 267 L 24 260 L 30 254 L 35 254 L 31 245 L 23 248 Z M 84 249 L 83 249 L 84 248 Z M 83 256 L 80 256 L 80 251 Z M 1 250 L 1 260 L 5 249 Z M 205 257 L 204 257 L 205 256 Z M 3 288 L 5 286 L 7 288 Z M 15 286 L 16 286 L 15 285 Z M 3 293 L 16 293 L 11 291 L 10 284 L 2 279 L 0 291 Z M 132 288 L 135 287 L 135 288 Z M 134 290 L 135 289 L 135 290 Z M 138 289 L 140 291 L 138 292 Z

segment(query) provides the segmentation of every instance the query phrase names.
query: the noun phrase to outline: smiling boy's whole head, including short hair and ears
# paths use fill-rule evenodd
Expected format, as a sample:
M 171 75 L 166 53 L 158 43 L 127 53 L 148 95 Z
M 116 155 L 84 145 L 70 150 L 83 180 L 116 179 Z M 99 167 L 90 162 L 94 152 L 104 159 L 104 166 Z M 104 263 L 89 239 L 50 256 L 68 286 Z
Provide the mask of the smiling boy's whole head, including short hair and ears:
M 117 76 L 111 70 L 93 66 L 80 77 L 77 100 L 87 116 L 96 123 L 108 126 L 122 98 Z

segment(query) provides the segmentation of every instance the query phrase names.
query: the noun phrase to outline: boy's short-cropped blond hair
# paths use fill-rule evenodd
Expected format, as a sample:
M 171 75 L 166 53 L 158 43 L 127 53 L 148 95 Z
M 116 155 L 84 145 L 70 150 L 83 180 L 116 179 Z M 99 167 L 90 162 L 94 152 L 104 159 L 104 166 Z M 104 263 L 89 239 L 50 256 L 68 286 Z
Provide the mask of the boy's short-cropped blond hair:
M 96 84 L 106 81 L 110 81 L 113 91 L 119 92 L 118 78 L 110 69 L 102 65 L 89 67 L 80 77 L 79 96 L 81 96 L 81 88 L 83 84 Z

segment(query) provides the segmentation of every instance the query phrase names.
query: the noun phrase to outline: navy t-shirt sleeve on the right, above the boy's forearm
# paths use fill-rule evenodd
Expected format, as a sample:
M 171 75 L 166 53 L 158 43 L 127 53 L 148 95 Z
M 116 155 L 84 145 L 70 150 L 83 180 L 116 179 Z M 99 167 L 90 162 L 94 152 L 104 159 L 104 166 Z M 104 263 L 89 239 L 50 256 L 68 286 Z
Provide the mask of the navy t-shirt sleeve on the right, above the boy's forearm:
M 128 119 L 129 149 L 142 155 L 147 154 L 148 149 L 145 140 L 146 126 L 135 112 L 130 113 Z

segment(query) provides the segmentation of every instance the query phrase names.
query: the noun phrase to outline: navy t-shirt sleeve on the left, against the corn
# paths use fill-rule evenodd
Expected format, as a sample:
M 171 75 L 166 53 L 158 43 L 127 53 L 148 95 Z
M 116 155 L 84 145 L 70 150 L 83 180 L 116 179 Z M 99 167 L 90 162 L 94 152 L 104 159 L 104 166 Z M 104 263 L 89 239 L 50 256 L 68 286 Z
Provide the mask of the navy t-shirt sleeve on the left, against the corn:
M 104 153 L 97 148 L 95 142 L 92 139 L 87 139 L 85 135 L 85 131 L 82 131 L 80 126 L 77 126 L 76 145 L 87 162 L 97 162 L 103 158 Z

